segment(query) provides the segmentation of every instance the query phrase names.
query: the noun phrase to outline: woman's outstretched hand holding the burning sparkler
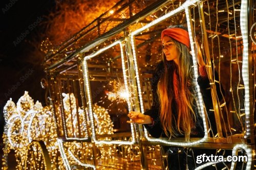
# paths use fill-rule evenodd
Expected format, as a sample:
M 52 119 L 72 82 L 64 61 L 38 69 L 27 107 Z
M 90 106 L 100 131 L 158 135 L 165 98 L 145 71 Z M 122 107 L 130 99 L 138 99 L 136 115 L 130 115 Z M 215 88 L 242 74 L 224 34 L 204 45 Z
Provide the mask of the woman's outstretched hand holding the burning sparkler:
M 128 114 L 128 117 L 130 117 L 130 121 L 127 121 L 127 123 L 136 123 L 136 124 L 152 124 L 152 118 L 148 115 L 144 115 L 140 112 L 134 112 L 131 111 Z

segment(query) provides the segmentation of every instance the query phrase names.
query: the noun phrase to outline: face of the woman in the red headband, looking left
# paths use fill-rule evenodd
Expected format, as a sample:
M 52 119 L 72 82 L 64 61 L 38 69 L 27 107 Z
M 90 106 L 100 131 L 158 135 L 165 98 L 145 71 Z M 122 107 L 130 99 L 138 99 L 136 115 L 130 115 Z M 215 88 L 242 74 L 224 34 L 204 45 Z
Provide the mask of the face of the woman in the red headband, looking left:
M 169 36 L 163 37 L 163 53 L 165 54 L 166 60 L 174 60 L 178 64 L 178 52 L 175 43 Z

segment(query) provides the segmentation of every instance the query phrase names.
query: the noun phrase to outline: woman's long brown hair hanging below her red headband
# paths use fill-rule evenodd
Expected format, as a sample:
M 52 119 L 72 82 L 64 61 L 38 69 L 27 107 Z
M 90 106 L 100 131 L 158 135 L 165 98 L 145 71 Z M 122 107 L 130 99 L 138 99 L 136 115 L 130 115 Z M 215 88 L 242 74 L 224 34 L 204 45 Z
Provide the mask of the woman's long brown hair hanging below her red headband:
M 195 96 L 191 91 L 195 86 L 193 62 L 188 48 L 174 39 L 173 42 L 178 51 L 178 65 L 174 61 L 167 61 L 163 53 L 164 74 L 160 77 L 157 91 L 160 102 L 160 120 L 164 133 L 169 138 L 184 134 L 185 140 L 189 141 L 191 128 L 195 126 L 196 122 L 196 114 L 193 110 Z M 179 96 L 175 96 L 174 93 L 174 72 L 178 75 Z M 174 99 L 175 97 L 176 99 Z M 176 108 L 173 108 L 173 102 L 175 102 Z

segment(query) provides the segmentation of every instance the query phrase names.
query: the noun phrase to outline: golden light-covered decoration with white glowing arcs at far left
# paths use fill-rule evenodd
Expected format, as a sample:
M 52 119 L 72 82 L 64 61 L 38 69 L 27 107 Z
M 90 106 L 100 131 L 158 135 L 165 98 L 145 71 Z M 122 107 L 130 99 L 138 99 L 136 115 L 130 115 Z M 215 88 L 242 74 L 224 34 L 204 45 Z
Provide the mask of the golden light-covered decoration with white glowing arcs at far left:
M 28 92 L 18 100 L 17 107 L 12 99 L 7 101 L 4 110 L 7 112 L 7 134 L 8 148 L 15 151 L 17 166 L 16 169 L 22 169 L 26 161 L 27 146 L 33 139 L 42 140 L 48 145 L 48 151 L 52 154 L 56 152 L 55 141 L 56 131 L 53 121 L 51 121 L 51 111 L 48 107 L 42 107 L 37 101 L 35 104 Z M 47 122 L 47 124 L 46 124 Z M 49 135 L 49 136 L 46 136 Z M 8 154 L 9 151 L 5 151 Z M 54 165 L 53 165 L 54 167 Z

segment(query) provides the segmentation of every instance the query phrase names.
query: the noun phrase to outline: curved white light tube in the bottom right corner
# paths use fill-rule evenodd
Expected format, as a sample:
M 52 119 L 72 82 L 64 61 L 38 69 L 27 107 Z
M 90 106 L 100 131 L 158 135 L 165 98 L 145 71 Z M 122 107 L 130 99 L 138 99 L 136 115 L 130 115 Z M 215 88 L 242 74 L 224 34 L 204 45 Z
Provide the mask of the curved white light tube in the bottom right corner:
M 245 152 L 247 154 L 246 170 L 250 170 L 251 169 L 251 161 L 252 161 L 252 150 L 251 150 L 251 148 L 246 144 L 237 144 L 232 150 L 232 156 L 237 155 L 237 151 L 239 149 L 244 149 L 245 150 Z M 224 162 L 226 162 L 226 161 L 227 161 L 227 159 L 224 158 Z M 216 164 L 216 163 L 220 163 L 220 161 L 204 163 L 203 165 L 198 166 L 195 170 L 200 170 L 200 169 L 203 169 L 207 166 L 210 166 L 210 165 L 213 165 L 213 164 Z M 235 166 L 234 166 L 235 164 L 236 164 L 236 162 L 232 161 L 230 170 L 233 170 L 235 168 Z

